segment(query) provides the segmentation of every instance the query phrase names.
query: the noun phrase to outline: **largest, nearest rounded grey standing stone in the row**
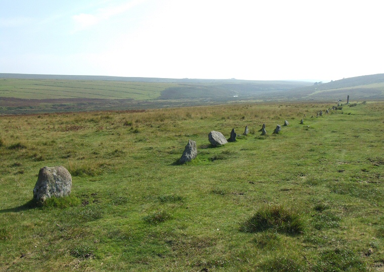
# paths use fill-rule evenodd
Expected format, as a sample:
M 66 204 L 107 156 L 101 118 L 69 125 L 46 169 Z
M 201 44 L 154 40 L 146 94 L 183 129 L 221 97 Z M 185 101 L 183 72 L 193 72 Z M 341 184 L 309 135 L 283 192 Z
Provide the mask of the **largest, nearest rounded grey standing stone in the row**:
M 47 198 L 63 197 L 71 194 L 72 176 L 63 166 L 40 169 L 33 189 L 33 199 L 39 202 Z

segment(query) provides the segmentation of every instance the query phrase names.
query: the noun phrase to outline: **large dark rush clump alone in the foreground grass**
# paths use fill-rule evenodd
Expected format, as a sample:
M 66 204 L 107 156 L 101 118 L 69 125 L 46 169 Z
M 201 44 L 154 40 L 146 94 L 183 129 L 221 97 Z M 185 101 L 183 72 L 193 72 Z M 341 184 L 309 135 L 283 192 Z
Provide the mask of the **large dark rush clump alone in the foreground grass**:
M 282 206 L 260 208 L 241 227 L 244 232 L 272 230 L 275 232 L 299 234 L 304 231 L 304 220 L 299 214 Z

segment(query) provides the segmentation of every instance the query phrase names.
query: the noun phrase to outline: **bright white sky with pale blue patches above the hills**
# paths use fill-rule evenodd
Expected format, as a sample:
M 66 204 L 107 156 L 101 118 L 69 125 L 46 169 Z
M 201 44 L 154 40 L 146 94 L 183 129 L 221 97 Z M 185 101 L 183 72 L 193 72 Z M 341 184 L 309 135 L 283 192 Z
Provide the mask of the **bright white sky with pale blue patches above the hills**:
M 323 82 L 381 74 L 383 5 L 0 0 L 0 73 Z

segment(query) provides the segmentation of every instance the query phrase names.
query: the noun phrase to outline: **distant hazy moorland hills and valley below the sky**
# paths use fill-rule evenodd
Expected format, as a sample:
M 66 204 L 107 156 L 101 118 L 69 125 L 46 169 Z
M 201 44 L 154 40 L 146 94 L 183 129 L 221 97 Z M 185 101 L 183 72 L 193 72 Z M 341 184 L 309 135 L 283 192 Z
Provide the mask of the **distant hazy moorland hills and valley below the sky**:
M 137 110 L 244 102 L 384 100 L 384 74 L 317 84 L 0 74 L 0 114 Z

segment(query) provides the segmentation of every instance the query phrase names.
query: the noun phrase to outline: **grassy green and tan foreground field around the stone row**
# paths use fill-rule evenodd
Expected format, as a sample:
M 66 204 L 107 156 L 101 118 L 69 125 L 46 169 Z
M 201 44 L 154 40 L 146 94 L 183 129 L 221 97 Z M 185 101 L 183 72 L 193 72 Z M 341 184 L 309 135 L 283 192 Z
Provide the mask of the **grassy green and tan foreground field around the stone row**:
M 384 103 L 333 105 L 2 116 L 0 271 L 382 271 Z M 56 165 L 72 194 L 35 207 Z

